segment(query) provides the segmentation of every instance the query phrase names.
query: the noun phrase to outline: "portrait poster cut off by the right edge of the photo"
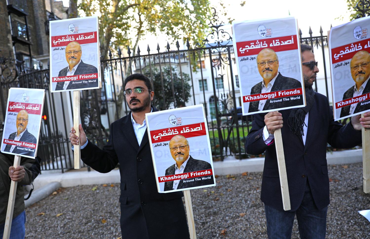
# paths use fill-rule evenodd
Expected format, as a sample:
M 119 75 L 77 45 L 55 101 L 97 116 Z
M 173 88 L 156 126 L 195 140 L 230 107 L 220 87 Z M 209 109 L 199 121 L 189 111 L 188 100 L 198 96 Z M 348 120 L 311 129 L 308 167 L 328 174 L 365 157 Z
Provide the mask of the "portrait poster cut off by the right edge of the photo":
M 370 110 L 370 17 L 333 27 L 329 35 L 334 120 Z

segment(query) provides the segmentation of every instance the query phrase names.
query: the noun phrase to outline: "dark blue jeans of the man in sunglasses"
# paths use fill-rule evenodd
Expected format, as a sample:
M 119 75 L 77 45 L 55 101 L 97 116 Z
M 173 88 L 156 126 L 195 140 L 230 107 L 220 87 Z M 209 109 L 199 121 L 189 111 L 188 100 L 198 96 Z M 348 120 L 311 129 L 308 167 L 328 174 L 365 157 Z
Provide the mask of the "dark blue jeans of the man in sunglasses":
M 302 203 L 295 212 L 277 210 L 265 204 L 265 213 L 269 239 L 291 238 L 294 216 L 297 216 L 300 238 L 325 238 L 327 206 L 317 209 L 308 180 Z

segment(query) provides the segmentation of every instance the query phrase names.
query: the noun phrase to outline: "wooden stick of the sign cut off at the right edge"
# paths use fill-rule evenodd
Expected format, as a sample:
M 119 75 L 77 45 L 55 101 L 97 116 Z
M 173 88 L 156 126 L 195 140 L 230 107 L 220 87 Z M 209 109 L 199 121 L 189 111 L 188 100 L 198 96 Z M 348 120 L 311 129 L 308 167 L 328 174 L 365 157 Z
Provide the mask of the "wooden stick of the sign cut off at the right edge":
M 364 114 L 361 114 L 361 118 Z M 370 129 L 361 127 L 362 131 L 362 167 L 364 193 L 370 193 Z

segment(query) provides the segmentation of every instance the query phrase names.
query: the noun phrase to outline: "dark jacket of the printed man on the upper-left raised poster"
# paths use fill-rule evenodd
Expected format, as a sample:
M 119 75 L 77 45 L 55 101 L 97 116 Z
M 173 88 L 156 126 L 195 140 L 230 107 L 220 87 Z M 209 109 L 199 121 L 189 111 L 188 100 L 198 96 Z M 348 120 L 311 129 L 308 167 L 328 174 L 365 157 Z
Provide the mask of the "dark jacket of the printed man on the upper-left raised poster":
M 69 66 L 67 66 L 66 68 L 61 69 L 58 76 L 66 76 L 67 72 L 68 72 L 68 67 Z M 92 74 L 92 73 L 98 73 L 98 69 L 95 66 L 86 64 L 81 60 L 80 65 L 78 65 L 78 67 L 77 67 L 77 69 L 76 69 L 76 71 L 74 72 L 73 75 Z M 97 87 L 98 84 L 99 84 L 98 78 L 86 79 L 86 80 L 87 81 L 88 80 L 95 80 L 95 82 L 92 82 L 92 83 L 82 83 L 81 82 L 79 84 L 73 84 L 73 82 L 80 82 L 80 81 L 70 81 L 68 86 L 67 86 L 67 90 L 77 89 L 77 88 L 80 89 L 80 88 Z M 64 82 L 58 82 L 57 86 L 55 87 L 55 91 L 63 90 L 63 85 L 64 85 Z

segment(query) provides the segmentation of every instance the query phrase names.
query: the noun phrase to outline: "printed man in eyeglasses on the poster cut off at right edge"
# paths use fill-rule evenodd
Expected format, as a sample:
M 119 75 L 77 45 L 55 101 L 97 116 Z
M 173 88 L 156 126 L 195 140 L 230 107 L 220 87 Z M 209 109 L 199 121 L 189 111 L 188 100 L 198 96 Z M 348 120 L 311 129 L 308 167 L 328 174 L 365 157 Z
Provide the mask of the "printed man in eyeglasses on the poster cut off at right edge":
M 352 97 L 368 94 L 370 92 L 370 54 L 367 51 L 361 50 L 354 54 L 350 62 L 351 76 L 354 81 L 354 86 L 351 86 L 343 94 L 343 100 L 350 99 Z M 356 102 L 351 105 L 347 105 L 340 110 L 340 117 L 347 115 L 356 114 L 358 112 L 365 111 L 370 108 L 370 104 L 367 101 Z M 365 104 L 364 104 L 365 103 Z

